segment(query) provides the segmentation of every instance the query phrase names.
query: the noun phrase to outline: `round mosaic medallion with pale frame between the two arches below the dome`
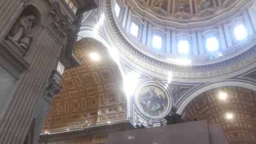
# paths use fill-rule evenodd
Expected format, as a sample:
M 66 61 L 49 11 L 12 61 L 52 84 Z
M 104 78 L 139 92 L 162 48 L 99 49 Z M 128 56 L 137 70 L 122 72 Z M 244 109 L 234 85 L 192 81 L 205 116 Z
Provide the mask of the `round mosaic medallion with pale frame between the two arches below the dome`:
M 170 98 L 162 86 L 146 84 L 135 93 L 135 103 L 139 112 L 148 118 L 163 118 L 170 111 Z

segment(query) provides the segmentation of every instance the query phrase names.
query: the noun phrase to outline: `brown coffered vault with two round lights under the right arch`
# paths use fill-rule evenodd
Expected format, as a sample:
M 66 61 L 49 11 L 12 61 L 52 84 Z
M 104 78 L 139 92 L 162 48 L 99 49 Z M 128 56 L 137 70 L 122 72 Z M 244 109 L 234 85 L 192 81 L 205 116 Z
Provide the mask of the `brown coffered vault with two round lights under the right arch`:
M 226 100 L 219 93 L 227 93 Z M 233 114 L 228 119 L 227 114 Z M 233 143 L 256 142 L 256 92 L 241 87 L 222 87 L 206 91 L 193 99 L 183 111 L 187 121 L 207 119 L 210 124 L 221 123 L 227 141 Z

